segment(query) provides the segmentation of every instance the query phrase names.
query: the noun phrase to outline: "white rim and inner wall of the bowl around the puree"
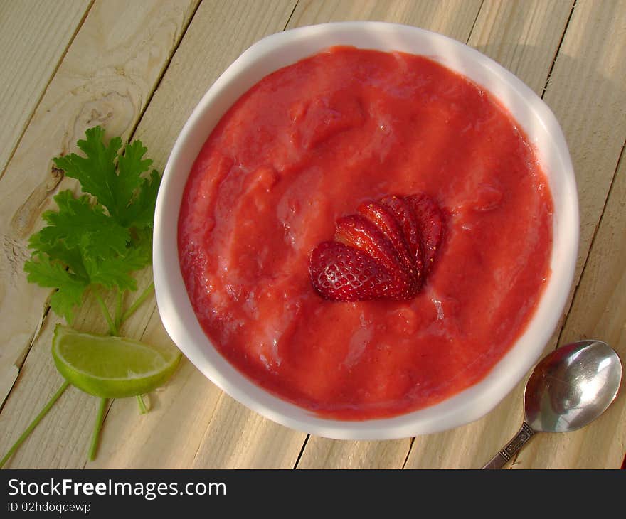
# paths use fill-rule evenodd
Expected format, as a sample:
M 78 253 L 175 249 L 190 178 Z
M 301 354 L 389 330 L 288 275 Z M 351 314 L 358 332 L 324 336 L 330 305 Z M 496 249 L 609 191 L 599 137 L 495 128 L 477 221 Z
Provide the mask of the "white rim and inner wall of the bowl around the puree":
M 168 268 L 172 264 L 176 264 L 179 267 L 177 218 L 181 200 L 179 196 L 173 193 L 181 191 L 182 188 L 179 184 L 182 183 L 184 185 L 189 176 L 188 168 L 184 172 L 184 181 L 181 182 L 179 177 L 183 173 L 177 173 L 177 171 L 180 171 L 181 167 L 183 169 L 186 168 L 184 164 L 189 164 L 190 160 L 191 164 L 193 164 L 197 156 L 196 153 L 192 159 L 189 159 L 189 157 L 184 158 L 186 148 L 191 147 L 192 144 L 198 146 L 200 141 L 199 146 L 201 146 L 208 137 L 208 132 L 198 137 L 200 132 L 197 131 L 198 127 L 202 127 L 203 117 L 206 119 L 208 110 L 211 110 L 216 105 L 219 97 L 224 95 L 224 92 L 227 92 L 228 89 L 232 90 L 238 77 L 242 75 L 248 75 L 249 77 L 254 77 L 255 74 L 259 75 L 258 63 L 265 63 L 264 60 L 271 59 L 272 56 L 281 52 L 281 59 L 288 61 L 293 55 L 303 52 L 299 50 L 298 45 L 306 47 L 307 43 L 326 41 L 325 38 L 337 38 L 338 35 L 340 36 L 340 41 L 350 41 L 350 38 L 359 38 L 363 35 L 371 38 L 374 38 L 374 36 L 376 38 L 389 38 L 390 35 L 394 37 L 401 36 L 400 39 L 405 38 L 408 41 L 411 38 L 417 38 L 419 41 L 430 42 L 430 48 L 435 51 L 435 54 L 423 52 L 416 52 L 416 54 L 426 55 L 435 60 L 442 60 L 442 55 L 436 54 L 437 49 L 454 49 L 454 52 L 450 54 L 452 57 L 455 59 L 460 57 L 464 58 L 464 60 L 469 59 L 471 63 L 481 68 L 484 74 L 494 77 L 494 80 L 497 80 L 499 85 L 504 85 L 503 87 L 507 92 L 510 91 L 519 96 L 520 99 L 514 99 L 512 102 L 523 102 L 527 105 L 530 112 L 532 112 L 532 117 L 530 114 L 529 117 L 537 119 L 537 122 L 539 122 L 538 131 L 546 134 L 548 140 L 552 141 L 551 146 L 546 146 L 546 148 L 556 151 L 556 155 L 550 156 L 548 159 L 556 161 L 557 166 L 561 168 L 559 174 L 563 179 L 563 186 L 561 190 L 562 199 L 559 200 L 561 205 L 559 207 L 565 207 L 564 212 L 562 211 L 558 215 L 562 220 L 559 222 L 559 225 L 561 225 L 559 231 L 562 235 L 558 237 L 556 235 L 553 236 L 551 277 L 548 279 L 546 287 L 544 287 L 539 304 L 526 325 L 522 336 L 518 337 L 511 348 L 509 348 L 509 351 L 492 367 L 492 370 L 474 385 L 430 407 L 402 414 L 398 417 L 364 421 L 344 421 L 319 417 L 313 412 L 272 395 L 267 390 L 250 381 L 243 373 L 233 368 L 232 365 L 221 357 L 211 344 L 210 339 L 201 330 L 193 309 L 191 309 L 191 303 L 184 288 L 180 269 Z M 338 44 L 336 41 L 337 39 L 334 39 L 331 43 L 327 43 L 317 50 L 336 45 Z M 373 48 L 372 46 L 360 47 Z M 392 50 L 393 48 L 388 46 L 387 51 Z M 301 53 L 300 58 L 311 54 L 311 52 Z M 289 63 L 295 63 L 297 59 Z M 440 61 L 440 63 L 457 72 L 460 72 L 459 68 L 462 68 L 450 66 L 450 63 L 445 61 Z M 277 66 L 273 70 L 277 70 L 281 66 L 284 65 Z M 266 71 L 260 77 L 267 75 L 267 73 L 270 72 Z M 258 80 L 260 80 L 260 77 L 258 77 Z M 474 80 L 472 77 L 470 79 Z M 256 81 L 246 83 L 248 86 L 243 89 L 243 92 L 248 90 L 254 82 Z M 474 80 L 474 82 L 483 87 L 479 81 Z M 497 95 L 493 90 L 487 89 L 487 87 L 484 88 L 485 90 L 490 90 L 494 97 L 503 102 L 502 96 Z M 239 95 L 236 95 L 235 99 L 237 97 Z M 511 102 L 511 100 L 507 101 Z M 506 102 L 503 103 L 507 106 Z M 222 114 L 226 112 L 226 109 L 231 104 L 221 109 Z M 218 111 L 218 109 L 214 110 Z M 514 117 L 514 119 L 517 120 L 518 118 Z M 532 124 L 535 123 L 533 122 Z M 211 125 L 208 126 L 212 129 Z M 524 127 L 524 124 L 521 124 L 521 126 Z M 524 127 L 524 129 L 530 137 L 531 134 L 529 134 L 527 128 Z M 554 198 L 554 193 L 552 195 Z M 556 200 L 553 201 L 556 204 Z M 176 221 L 172 222 L 171 213 L 174 209 Z M 555 221 L 553 222 L 555 231 L 557 228 L 556 216 L 555 205 Z M 266 36 L 245 50 L 208 88 L 198 105 L 191 112 L 189 119 L 187 119 L 177 137 L 161 179 L 161 188 L 159 189 L 154 216 L 153 270 L 157 306 L 161 321 L 172 341 L 203 375 L 238 402 L 274 422 L 301 432 L 334 439 L 383 440 L 430 434 L 474 422 L 492 411 L 539 360 L 541 353 L 543 353 L 546 344 L 558 325 L 558 321 L 561 319 L 561 314 L 566 306 L 573 283 L 575 264 L 578 257 L 578 226 L 578 192 L 571 157 L 561 127 L 548 105 L 509 70 L 506 70 L 502 65 L 499 65 L 478 50 L 465 45 L 465 43 L 440 33 L 434 33 L 433 31 L 414 26 L 379 21 L 329 22 L 304 26 Z M 563 247 L 558 262 L 555 260 L 557 239 L 560 247 Z M 557 265 L 558 270 L 555 271 Z M 558 287 L 553 289 L 556 282 L 558 282 Z M 550 297 L 548 298 L 549 301 L 546 301 L 548 289 Z M 545 315 L 546 317 L 541 321 L 541 328 L 538 328 L 536 321 L 540 307 L 543 311 L 541 316 Z M 191 316 L 189 309 L 191 309 Z M 198 334 L 198 331 L 200 331 L 200 334 Z M 534 342 L 531 342 L 528 338 L 524 341 L 529 331 L 532 331 L 532 340 Z M 520 353 L 522 343 L 524 348 L 528 350 L 525 353 L 521 352 L 524 355 Z

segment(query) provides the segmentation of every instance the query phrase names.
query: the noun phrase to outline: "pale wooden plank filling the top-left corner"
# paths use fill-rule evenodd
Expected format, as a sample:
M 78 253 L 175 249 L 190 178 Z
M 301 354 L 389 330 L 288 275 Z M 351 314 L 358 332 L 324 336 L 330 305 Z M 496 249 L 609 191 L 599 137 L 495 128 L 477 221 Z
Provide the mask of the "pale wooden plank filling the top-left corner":
M 0 177 L 90 4 L 0 3 Z

